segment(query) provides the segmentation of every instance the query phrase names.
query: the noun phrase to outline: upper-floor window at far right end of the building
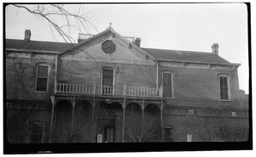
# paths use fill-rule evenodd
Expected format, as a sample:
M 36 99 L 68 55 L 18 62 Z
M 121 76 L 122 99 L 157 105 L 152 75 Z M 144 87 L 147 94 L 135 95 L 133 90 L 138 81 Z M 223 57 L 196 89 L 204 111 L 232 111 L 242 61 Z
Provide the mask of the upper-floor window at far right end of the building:
M 219 76 L 220 99 L 229 100 L 229 78 L 227 76 Z

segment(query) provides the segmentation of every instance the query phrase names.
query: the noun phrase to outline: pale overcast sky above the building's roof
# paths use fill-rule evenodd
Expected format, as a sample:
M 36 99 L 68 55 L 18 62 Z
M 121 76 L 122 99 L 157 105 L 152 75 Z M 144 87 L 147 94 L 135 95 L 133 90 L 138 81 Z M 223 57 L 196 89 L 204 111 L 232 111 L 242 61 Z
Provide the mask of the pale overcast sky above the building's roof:
M 78 6 L 67 6 L 74 11 Z M 143 48 L 160 48 L 212 53 L 212 43 L 219 45 L 220 57 L 238 63 L 240 88 L 248 93 L 247 6 L 243 3 L 143 3 L 84 4 L 84 13 L 96 27 L 91 34 L 105 31 L 109 22 L 122 36 L 142 39 Z M 26 10 L 8 6 L 6 38 L 23 39 L 32 31 L 32 40 L 63 42 L 55 36 L 45 20 Z M 58 22 L 58 20 L 56 20 Z M 84 32 L 86 33 L 86 32 Z M 79 31 L 71 31 L 77 39 Z

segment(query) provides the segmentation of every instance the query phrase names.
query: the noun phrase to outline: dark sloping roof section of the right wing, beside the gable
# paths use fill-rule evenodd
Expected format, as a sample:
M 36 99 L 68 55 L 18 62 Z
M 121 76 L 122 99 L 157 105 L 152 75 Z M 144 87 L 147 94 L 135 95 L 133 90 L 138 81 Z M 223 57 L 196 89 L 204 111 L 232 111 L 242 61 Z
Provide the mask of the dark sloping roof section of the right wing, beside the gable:
M 215 53 L 201 53 L 156 48 L 143 48 L 143 50 L 154 56 L 154 58 L 157 60 L 186 61 L 210 64 L 230 64 L 230 62 L 219 57 Z

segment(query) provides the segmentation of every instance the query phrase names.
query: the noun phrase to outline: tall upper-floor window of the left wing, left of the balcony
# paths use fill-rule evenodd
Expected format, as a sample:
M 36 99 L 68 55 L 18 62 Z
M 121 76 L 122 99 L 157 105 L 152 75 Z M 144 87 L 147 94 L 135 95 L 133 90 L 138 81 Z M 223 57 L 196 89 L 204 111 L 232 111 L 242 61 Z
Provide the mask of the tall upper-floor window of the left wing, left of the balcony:
M 47 91 L 48 65 L 38 65 L 37 91 Z

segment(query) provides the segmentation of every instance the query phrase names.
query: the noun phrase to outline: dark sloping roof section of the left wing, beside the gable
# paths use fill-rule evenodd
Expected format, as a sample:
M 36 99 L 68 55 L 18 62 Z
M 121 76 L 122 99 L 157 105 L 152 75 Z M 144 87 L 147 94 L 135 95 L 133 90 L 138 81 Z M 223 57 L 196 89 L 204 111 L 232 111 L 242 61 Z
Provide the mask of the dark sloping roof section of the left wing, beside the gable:
M 75 44 L 69 44 L 67 42 L 41 42 L 6 39 L 6 48 L 29 51 L 47 51 L 63 53 L 67 48 L 71 48 L 74 45 Z

